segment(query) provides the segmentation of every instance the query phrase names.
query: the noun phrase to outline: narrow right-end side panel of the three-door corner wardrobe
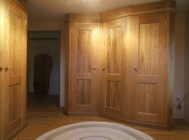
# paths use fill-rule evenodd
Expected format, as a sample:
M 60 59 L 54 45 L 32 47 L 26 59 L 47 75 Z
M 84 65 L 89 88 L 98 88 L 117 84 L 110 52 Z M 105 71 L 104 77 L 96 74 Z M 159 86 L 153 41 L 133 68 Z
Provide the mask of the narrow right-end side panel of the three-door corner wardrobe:
M 165 50 L 165 119 L 166 125 L 173 124 L 173 95 L 174 95 L 174 67 L 175 67 L 175 14 L 167 12 L 166 15 L 166 50 Z

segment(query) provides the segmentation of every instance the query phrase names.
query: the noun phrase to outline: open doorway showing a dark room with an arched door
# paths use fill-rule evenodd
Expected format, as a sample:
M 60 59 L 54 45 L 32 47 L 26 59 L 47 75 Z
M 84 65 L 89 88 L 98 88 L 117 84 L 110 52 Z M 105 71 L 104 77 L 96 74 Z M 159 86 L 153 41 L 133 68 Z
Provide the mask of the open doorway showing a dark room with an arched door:
M 60 32 L 28 32 L 28 104 L 54 99 L 59 105 Z

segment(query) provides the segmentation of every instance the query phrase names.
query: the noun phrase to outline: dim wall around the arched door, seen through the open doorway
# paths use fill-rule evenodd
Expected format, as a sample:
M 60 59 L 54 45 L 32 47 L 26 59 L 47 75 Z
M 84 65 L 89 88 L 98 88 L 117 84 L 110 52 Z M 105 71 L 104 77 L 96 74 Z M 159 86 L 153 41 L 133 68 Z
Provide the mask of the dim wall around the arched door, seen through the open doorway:
M 57 40 L 29 40 L 29 92 L 34 92 L 34 59 L 39 54 L 52 58 L 48 94 L 59 95 L 59 48 L 58 32 L 30 32 L 29 38 L 57 38 Z

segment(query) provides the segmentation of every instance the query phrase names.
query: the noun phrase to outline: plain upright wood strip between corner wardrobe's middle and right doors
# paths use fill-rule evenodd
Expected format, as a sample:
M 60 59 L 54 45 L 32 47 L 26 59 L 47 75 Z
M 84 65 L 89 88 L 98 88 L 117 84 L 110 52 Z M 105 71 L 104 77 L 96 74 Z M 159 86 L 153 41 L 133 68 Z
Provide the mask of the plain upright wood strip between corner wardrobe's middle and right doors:
M 125 38 L 125 43 L 127 47 L 127 55 L 128 55 L 128 72 L 127 72 L 127 92 L 128 92 L 128 120 L 136 119 L 137 112 L 134 108 L 137 108 L 137 100 L 138 98 L 135 97 L 136 90 L 138 87 L 138 83 L 136 83 L 137 78 L 133 68 L 137 68 L 138 66 L 138 49 L 139 44 L 139 18 L 137 16 L 131 16 L 126 18 L 126 25 L 127 25 L 127 34 Z M 133 88 L 135 87 L 135 88 Z

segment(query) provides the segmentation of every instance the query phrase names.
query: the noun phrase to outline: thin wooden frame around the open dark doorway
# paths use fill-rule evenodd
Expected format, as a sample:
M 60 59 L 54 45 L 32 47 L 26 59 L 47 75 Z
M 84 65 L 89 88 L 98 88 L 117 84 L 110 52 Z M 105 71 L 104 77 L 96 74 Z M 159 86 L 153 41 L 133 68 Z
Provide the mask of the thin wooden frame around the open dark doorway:
M 59 92 L 58 92 L 58 96 L 59 96 L 59 106 L 60 106 L 60 82 L 61 82 L 61 78 L 60 78 L 60 70 L 61 70 L 61 66 L 60 66 L 60 61 L 61 61 L 61 37 L 62 37 L 62 34 L 61 34 L 61 30 L 45 30 L 45 31 L 41 31 L 41 30 L 28 30 L 28 34 L 27 34 L 27 101 L 28 101 L 28 95 L 29 95 L 29 81 L 30 81 L 30 78 L 29 78 L 29 47 L 30 47 L 30 33 L 42 33 L 42 32 L 46 32 L 46 33 L 59 33 Z M 28 102 L 27 102 L 27 105 L 28 105 Z

